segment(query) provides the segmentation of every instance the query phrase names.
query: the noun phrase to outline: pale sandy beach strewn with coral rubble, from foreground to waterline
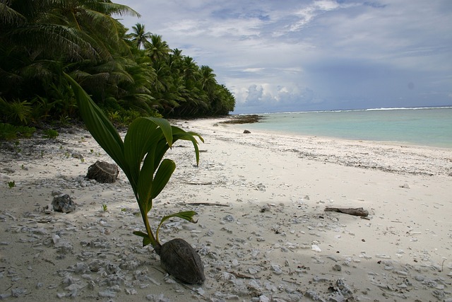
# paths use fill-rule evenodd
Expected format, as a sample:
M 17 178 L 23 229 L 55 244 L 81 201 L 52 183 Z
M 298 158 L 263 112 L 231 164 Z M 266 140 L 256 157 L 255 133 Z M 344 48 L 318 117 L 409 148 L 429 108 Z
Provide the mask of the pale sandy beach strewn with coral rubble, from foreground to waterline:
M 154 226 L 198 212 L 160 239 L 198 250 L 202 285 L 174 281 L 133 236 L 143 223 L 124 174 L 85 179 L 95 161 L 112 162 L 87 132 L 2 142 L 0 300 L 452 301 L 451 149 L 243 134 L 246 124 L 219 121 L 174 122 L 205 139 L 201 163 L 178 142 L 150 212 Z M 76 211 L 47 214 L 58 193 Z

